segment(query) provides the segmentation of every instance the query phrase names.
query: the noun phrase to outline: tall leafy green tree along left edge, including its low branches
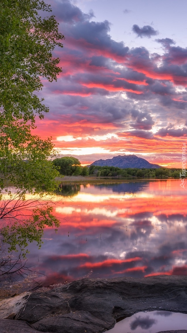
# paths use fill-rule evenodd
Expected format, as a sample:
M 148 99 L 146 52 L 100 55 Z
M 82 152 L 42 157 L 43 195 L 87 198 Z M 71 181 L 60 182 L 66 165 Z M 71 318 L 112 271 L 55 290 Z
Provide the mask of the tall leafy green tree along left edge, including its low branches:
M 44 200 L 57 188 L 59 173 L 48 160 L 54 147 L 31 131 L 36 115 L 42 119 L 49 111 L 36 92 L 42 77 L 57 80 L 60 60 L 52 52 L 63 47 L 64 36 L 55 17 L 42 19 L 39 11 L 51 9 L 42 0 L 4 0 L 0 7 L 0 234 L 9 251 L 18 246 L 24 251 L 33 240 L 40 246 L 45 225 L 59 225 L 51 202 Z M 24 214 L 28 194 L 35 196 L 29 199 L 29 216 Z

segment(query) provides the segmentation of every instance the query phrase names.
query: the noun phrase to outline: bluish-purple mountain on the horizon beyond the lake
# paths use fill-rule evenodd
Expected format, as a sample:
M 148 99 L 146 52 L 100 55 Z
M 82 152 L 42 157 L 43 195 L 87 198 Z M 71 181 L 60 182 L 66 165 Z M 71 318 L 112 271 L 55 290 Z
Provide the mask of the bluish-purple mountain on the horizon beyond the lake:
M 107 159 L 107 160 L 98 160 L 93 162 L 90 166 L 117 166 L 120 167 L 121 169 L 125 168 L 138 168 L 138 169 L 158 169 L 159 166 L 158 164 L 151 164 L 145 159 L 142 159 L 141 157 L 137 157 L 136 155 L 125 155 L 125 156 L 114 156 L 112 159 Z

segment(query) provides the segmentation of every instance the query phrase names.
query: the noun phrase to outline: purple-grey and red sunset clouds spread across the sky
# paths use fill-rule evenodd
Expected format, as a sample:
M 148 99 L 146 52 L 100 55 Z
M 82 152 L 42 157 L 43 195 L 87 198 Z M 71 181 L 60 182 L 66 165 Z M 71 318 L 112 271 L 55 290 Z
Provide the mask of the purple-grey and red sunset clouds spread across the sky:
M 54 142 L 57 137 L 81 137 L 77 148 L 85 149 L 85 154 L 93 145 L 98 154 L 100 148 L 105 154 L 147 152 L 154 158 L 160 152 L 160 161 L 170 154 L 170 162 L 177 164 L 171 153 L 179 151 L 180 135 L 186 133 L 187 48 L 170 38 L 158 39 L 165 47 L 154 54 L 143 42 L 129 48 L 111 38 L 107 20 L 92 21 L 93 13 L 84 13 L 68 0 L 53 0 L 51 5 L 66 39 L 64 48 L 56 48 L 54 54 L 61 59 L 62 73 L 53 84 L 44 80 L 38 93 L 50 108 L 37 123 L 39 134 L 52 135 Z M 145 27 L 138 27 L 140 37 L 157 33 Z M 109 134 L 118 138 L 86 140 Z M 75 152 L 77 141 L 67 141 L 64 147 L 55 143 L 59 151 Z

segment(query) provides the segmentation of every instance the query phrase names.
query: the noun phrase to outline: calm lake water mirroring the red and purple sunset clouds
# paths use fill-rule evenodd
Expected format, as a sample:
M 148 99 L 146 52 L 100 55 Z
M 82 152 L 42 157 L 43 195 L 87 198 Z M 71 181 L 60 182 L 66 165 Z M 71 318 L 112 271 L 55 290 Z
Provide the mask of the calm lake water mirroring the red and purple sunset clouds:
M 46 283 L 82 277 L 187 275 L 187 191 L 180 180 L 64 186 L 58 233 L 47 228 L 28 265 Z M 44 275 L 42 275 L 44 274 Z

